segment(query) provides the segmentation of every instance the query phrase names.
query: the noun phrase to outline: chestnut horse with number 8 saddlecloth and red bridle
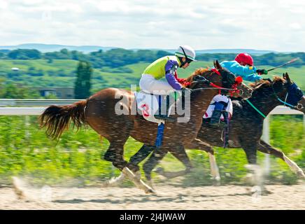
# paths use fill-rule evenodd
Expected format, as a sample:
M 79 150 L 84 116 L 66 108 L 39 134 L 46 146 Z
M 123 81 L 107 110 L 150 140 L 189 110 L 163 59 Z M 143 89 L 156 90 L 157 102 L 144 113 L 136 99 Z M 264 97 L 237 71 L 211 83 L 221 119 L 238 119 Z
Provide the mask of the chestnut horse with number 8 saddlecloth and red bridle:
M 198 90 L 190 93 L 190 118 L 188 122 L 166 123 L 164 126 L 162 148 L 166 148 L 166 151 L 177 155 L 177 157 L 180 154 L 186 155 L 183 145 L 197 136 L 204 111 L 206 111 L 215 94 L 218 94 L 218 89 L 211 88 L 211 83 L 227 88 L 234 85 L 234 74 L 222 69 L 218 61 L 214 64 L 217 70 L 197 69 L 187 78 L 187 81 L 191 83 L 188 87 Z M 246 97 L 250 97 L 252 90 L 250 88 L 246 88 L 246 90 L 244 94 L 246 94 Z M 115 111 L 115 108 L 118 107 L 125 108 L 127 111 L 134 111 L 136 109 L 134 93 L 115 88 L 104 89 L 87 100 L 68 106 L 49 106 L 39 119 L 41 126 L 46 127 L 48 136 L 54 139 L 60 137 L 62 132 L 69 127 L 71 121 L 77 128 L 83 123 L 87 123 L 110 142 L 104 159 L 112 162 L 136 186 L 145 190 L 146 193 L 151 193 L 153 192 L 152 188 L 134 174 L 134 172 L 139 171 L 139 166 L 124 160 L 124 145 L 129 137 L 133 137 L 137 141 L 153 146 L 157 136 L 157 123 L 148 122 L 139 114 L 120 115 Z M 175 116 L 178 117 L 178 115 Z M 190 164 L 188 160 L 183 160 L 183 162 L 187 165 Z

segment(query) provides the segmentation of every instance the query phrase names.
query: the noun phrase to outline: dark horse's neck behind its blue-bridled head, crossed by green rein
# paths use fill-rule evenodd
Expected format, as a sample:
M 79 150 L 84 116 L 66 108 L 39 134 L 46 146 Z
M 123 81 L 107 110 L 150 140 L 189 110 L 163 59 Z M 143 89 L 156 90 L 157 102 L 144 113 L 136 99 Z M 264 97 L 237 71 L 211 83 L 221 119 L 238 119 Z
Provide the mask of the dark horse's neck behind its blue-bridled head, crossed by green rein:
M 281 102 L 276 99 L 272 88 L 268 87 L 267 90 L 268 91 L 265 90 L 262 94 L 257 94 L 255 97 L 249 98 L 249 101 L 265 116 L 267 116 L 273 109 L 275 109 L 276 106 L 281 104 Z

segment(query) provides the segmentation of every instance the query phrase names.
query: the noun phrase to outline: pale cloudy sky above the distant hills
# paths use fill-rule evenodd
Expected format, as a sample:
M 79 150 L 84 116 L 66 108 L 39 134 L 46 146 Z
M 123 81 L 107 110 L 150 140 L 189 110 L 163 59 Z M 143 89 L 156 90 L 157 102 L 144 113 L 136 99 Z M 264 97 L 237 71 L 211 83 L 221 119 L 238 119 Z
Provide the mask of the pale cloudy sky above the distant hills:
M 305 52 L 304 0 L 0 0 L 0 45 Z

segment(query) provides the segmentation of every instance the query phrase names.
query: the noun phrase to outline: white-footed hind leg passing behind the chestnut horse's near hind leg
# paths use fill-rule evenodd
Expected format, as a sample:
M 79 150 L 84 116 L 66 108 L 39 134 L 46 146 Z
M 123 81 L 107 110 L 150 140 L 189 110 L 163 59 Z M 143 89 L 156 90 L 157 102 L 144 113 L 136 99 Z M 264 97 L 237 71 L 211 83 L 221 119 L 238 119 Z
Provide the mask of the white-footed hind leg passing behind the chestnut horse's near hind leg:
M 155 146 L 148 146 L 143 145 L 136 154 L 134 154 L 127 165 L 130 169 L 132 169 L 133 172 L 136 172 L 136 176 L 141 177 L 141 172 L 139 171 L 139 163 L 145 160 L 145 158 L 148 157 L 148 155 L 155 149 Z M 134 168 L 134 169 L 133 169 Z M 137 168 L 138 170 L 135 170 Z M 111 181 L 108 181 L 107 186 L 117 186 L 118 184 L 122 183 L 122 181 L 125 180 L 125 174 L 121 173 L 120 176 L 111 179 Z

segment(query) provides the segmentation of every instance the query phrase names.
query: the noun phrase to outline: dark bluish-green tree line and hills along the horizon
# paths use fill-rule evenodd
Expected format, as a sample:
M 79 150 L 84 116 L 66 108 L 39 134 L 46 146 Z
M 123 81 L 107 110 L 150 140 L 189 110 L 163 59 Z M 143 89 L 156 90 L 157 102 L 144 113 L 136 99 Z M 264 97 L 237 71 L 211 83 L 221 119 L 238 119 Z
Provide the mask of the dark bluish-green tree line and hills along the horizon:
M 159 57 L 165 55 L 173 55 L 172 52 L 164 50 L 126 50 L 123 48 L 113 48 L 111 50 L 98 50 L 84 54 L 77 50 L 62 49 L 55 52 L 40 52 L 35 49 L 17 49 L 17 50 L 1 50 L 0 59 L 47 59 L 52 62 L 53 59 L 73 59 L 78 61 L 87 61 L 92 64 L 94 68 L 103 67 L 121 67 L 127 64 L 134 64 L 138 62 L 152 62 Z M 197 59 L 201 61 L 213 61 L 218 59 L 220 61 L 233 60 L 236 54 L 199 54 Z M 291 66 L 305 65 L 305 52 L 293 53 L 267 53 L 264 55 L 253 55 L 256 65 L 270 65 L 276 66 L 281 63 L 288 62 L 290 59 L 299 57 L 300 59 Z M 125 71 L 127 72 L 127 71 Z

